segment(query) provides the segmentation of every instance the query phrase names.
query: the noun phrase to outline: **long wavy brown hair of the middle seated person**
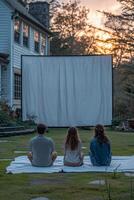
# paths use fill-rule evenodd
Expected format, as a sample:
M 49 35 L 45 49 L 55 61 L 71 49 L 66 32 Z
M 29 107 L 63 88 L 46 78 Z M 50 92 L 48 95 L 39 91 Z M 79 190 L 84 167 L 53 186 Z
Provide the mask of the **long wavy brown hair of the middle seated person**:
M 70 127 L 66 136 L 65 149 L 70 148 L 71 150 L 75 150 L 77 149 L 79 142 L 80 138 L 77 128 Z

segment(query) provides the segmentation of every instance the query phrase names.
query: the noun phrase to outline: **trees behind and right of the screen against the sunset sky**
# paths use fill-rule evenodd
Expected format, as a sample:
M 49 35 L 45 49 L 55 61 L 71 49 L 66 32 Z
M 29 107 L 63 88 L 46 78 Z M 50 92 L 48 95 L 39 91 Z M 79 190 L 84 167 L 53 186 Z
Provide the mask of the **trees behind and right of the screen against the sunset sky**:
M 23 5 L 28 0 L 18 0 Z M 89 24 L 89 9 L 78 0 L 61 3 L 50 0 L 53 37 L 52 55 L 85 55 L 110 53 L 114 61 L 114 117 L 134 118 L 134 1 L 117 0 L 120 14 L 99 11 L 106 18 L 105 28 Z M 108 34 L 107 39 L 97 36 Z M 99 46 L 99 43 L 103 44 Z M 107 46 L 112 44 L 111 48 Z

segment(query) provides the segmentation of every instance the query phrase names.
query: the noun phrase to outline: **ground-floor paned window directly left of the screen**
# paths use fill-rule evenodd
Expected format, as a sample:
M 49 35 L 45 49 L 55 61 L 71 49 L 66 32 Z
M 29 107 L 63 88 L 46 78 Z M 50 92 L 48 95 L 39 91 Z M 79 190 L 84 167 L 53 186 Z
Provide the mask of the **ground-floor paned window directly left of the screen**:
M 14 74 L 14 98 L 21 99 L 21 75 Z

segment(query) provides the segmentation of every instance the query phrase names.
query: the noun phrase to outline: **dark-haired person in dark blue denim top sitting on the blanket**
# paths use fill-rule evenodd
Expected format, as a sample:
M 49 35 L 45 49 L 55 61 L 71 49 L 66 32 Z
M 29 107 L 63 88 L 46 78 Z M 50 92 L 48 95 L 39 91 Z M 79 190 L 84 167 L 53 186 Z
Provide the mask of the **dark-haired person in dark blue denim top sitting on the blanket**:
M 95 127 L 95 135 L 90 143 L 90 159 L 94 166 L 109 166 L 111 163 L 111 145 L 100 124 Z

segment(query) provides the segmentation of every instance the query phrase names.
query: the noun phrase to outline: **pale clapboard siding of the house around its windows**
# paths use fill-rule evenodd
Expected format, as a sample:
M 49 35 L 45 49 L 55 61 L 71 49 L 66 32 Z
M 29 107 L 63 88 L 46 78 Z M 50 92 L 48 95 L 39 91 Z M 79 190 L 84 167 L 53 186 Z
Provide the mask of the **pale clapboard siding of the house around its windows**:
M 0 0 L 0 53 L 9 54 L 9 64 L 6 68 L 1 68 L 1 96 L 6 99 L 10 106 L 20 107 L 20 100 L 14 99 L 14 73 L 21 73 L 21 56 L 22 55 L 39 55 L 34 50 L 34 30 L 43 32 L 40 28 L 32 24 L 28 19 L 22 19 L 29 24 L 29 48 L 23 46 L 23 36 L 21 30 L 21 43 L 17 44 L 14 41 L 14 18 L 12 13 L 14 9 L 10 7 L 5 0 Z M 44 32 L 45 34 L 45 32 Z M 48 37 L 48 34 L 45 34 Z M 45 55 L 48 55 L 48 40 L 46 38 Z

